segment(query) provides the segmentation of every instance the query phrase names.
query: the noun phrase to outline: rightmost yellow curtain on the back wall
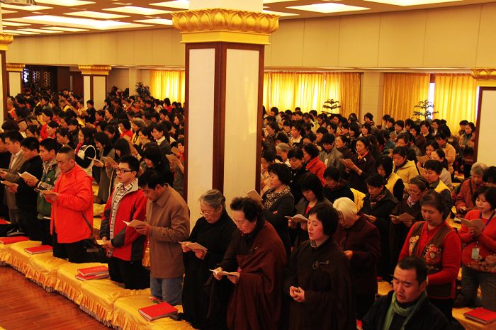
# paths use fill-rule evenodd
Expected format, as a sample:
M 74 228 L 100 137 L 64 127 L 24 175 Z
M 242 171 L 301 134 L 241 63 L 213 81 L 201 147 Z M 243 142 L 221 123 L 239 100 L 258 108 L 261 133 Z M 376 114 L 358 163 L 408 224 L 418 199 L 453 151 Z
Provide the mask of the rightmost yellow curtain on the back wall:
M 434 76 L 434 118 L 444 118 L 453 134 L 458 123 L 475 123 L 477 84 L 470 74 L 436 74 Z

